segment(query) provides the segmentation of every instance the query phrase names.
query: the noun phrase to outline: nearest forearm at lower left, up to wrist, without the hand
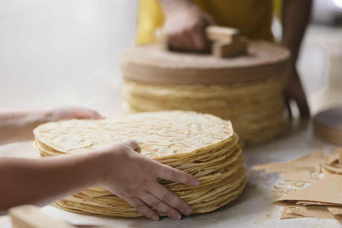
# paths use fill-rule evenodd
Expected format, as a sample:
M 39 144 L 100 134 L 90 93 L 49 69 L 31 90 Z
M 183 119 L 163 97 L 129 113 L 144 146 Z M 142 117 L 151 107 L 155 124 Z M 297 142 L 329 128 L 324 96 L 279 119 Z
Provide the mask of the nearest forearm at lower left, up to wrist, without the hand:
M 0 211 L 22 204 L 42 206 L 100 183 L 100 153 L 56 158 L 0 157 Z

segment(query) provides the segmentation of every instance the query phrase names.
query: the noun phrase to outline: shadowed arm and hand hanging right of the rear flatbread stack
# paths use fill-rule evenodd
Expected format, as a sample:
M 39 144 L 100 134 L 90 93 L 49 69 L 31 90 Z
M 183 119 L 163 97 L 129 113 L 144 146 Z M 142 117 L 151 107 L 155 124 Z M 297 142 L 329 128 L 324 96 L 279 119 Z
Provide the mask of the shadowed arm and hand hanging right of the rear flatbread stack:
M 305 29 L 310 21 L 312 0 L 284 0 L 282 12 L 281 44 L 291 51 L 291 64 L 285 95 L 287 102 L 294 99 L 302 118 L 310 116 L 303 86 L 296 69 L 296 62 Z

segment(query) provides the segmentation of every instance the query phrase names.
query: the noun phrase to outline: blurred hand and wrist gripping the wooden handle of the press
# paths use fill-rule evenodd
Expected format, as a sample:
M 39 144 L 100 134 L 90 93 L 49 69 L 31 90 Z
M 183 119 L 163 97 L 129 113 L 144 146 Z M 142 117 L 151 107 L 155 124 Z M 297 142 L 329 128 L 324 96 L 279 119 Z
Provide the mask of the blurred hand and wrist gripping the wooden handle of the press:
M 169 45 L 176 50 L 203 51 L 209 42 L 204 27 L 215 24 L 191 0 L 159 0 L 165 15 L 164 32 Z

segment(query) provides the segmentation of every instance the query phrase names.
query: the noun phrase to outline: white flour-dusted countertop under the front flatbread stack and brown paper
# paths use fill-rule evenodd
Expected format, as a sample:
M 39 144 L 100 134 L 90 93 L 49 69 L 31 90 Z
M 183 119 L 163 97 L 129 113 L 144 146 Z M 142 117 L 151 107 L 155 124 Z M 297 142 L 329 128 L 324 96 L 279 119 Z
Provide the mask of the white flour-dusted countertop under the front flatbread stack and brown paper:
M 252 165 L 270 161 L 287 161 L 304 153 L 323 149 L 326 152 L 336 147 L 312 136 L 312 127 L 297 126 L 286 134 L 262 146 L 244 150 L 248 182 L 245 191 L 233 203 L 214 212 L 183 217 L 179 221 L 161 218 L 153 222 L 144 218 L 109 218 L 66 212 L 52 206 L 45 206 L 42 211 L 48 215 L 64 219 L 77 225 L 113 225 L 121 227 L 341 227 L 342 221 L 317 218 L 279 219 L 283 206 L 272 204 L 272 184 L 280 178 L 277 174 L 265 174 L 250 169 Z M 38 152 L 30 148 L 30 142 L 0 147 L 4 151 L 25 151 L 25 157 L 38 157 Z M 0 225 L 8 220 L 0 219 Z M 0 226 L 1 227 L 1 226 Z

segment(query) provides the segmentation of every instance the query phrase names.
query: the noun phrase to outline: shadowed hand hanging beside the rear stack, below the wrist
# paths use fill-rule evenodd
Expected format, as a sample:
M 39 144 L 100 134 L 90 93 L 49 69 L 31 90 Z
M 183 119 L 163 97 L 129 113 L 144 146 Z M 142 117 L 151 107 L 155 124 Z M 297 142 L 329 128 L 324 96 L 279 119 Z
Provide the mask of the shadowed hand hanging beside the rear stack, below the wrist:
M 292 112 L 290 108 L 290 101 L 294 100 L 299 108 L 301 119 L 307 119 L 310 117 L 309 106 L 306 101 L 305 92 L 298 75 L 297 69 L 293 64 L 286 78 L 285 88 L 285 102 L 289 109 L 289 116 L 292 118 Z

